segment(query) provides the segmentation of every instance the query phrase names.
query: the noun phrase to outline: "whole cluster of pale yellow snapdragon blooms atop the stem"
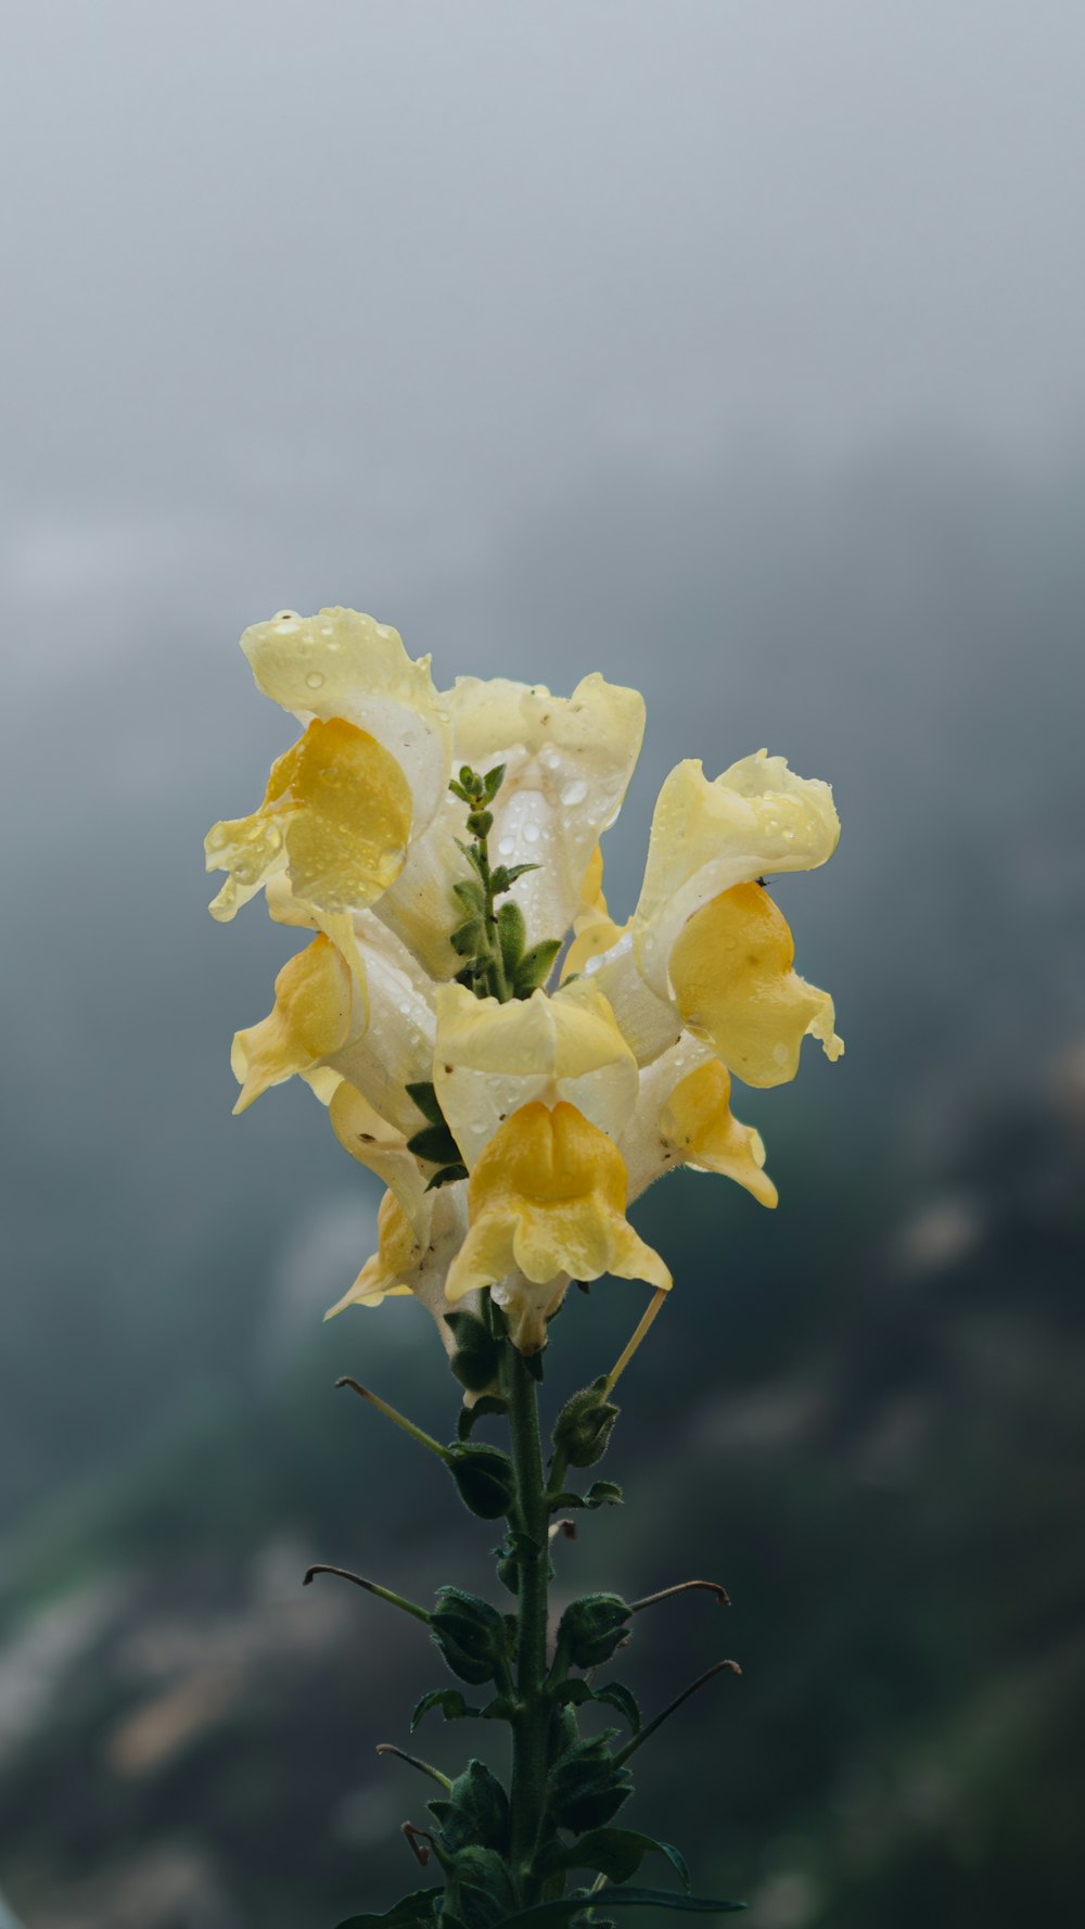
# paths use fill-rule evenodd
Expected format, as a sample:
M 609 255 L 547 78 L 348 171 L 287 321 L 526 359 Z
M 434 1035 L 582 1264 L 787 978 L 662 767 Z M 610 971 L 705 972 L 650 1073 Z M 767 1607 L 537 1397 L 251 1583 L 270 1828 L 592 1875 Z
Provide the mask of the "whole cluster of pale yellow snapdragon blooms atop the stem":
M 451 1346 L 445 1314 L 490 1292 L 530 1354 L 570 1279 L 671 1285 L 626 1217 L 671 1167 L 775 1206 L 730 1080 L 794 1078 L 807 1034 L 844 1049 L 765 885 L 833 855 L 829 785 L 763 750 L 715 781 L 678 764 L 619 926 L 599 837 L 640 752 L 636 691 L 437 691 L 353 610 L 283 611 L 241 642 L 303 735 L 260 806 L 210 831 L 210 909 L 264 889 L 312 936 L 235 1036 L 237 1109 L 304 1078 L 387 1186 L 380 1248 L 331 1312 L 412 1292 Z

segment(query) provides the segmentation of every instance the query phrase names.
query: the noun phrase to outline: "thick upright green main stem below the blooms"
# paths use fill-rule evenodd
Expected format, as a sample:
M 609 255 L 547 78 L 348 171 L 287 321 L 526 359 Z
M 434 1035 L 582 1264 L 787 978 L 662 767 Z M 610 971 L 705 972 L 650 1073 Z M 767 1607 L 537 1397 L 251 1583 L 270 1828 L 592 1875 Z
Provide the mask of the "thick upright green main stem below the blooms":
M 518 1526 L 534 1543 L 520 1557 L 516 1615 L 516 1701 L 513 1723 L 513 1842 L 511 1863 L 522 1902 L 538 1900 L 530 1879 L 547 1773 L 549 1705 L 545 1699 L 545 1636 L 549 1593 L 549 1503 L 540 1441 L 536 1381 L 515 1346 L 507 1346 L 507 1397 L 516 1468 Z

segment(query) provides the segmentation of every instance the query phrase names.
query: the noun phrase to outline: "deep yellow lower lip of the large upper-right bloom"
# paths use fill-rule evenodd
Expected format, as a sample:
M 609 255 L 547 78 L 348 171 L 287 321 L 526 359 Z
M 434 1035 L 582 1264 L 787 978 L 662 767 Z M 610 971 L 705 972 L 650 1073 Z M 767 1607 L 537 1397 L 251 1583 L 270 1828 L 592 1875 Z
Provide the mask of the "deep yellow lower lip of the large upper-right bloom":
M 833 999 L 798 978 L 792 961 L 788 922 L 757 883 L 738 883 L 698 910 L 671 953 L 682 1022 L 746 1084 L 794 1078 L 807 1032 L 829 1059 L 844 1049 Z

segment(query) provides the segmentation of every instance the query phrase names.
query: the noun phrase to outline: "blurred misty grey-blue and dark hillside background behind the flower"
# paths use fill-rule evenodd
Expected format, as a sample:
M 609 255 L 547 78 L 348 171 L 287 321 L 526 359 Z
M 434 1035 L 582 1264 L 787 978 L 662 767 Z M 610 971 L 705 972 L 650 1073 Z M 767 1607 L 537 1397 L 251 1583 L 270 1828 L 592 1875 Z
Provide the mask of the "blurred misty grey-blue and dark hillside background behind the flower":
M 676 1277 L 561 1589 L 638 1624 L 622 1821 L 752 1929 L 1081 1906 L 1085 17 L 1062 0 L 42 0 L 6 23 L 0 1890 L 25 1929 L 314 1929 L 414 1887 L 374 1744 L 491 1530 L 420 1308 L 320 1325 L 376 1181 L 229 1117 L 293 945 L 206 916 L 293 727 L 235 638 L 638 685 L 607 889 L 678 756 L 844 839 L 781 901 L 848 1057 L 740 1094 L 781 1209 L 678 1175 Z M 555 1331 L 547 1399 L 642 1289 Z M 349 1599 L 345 1597 L 349 1595 Z M 715 1699 L 711 1699 L 715 1696 Z M 434 1721 L 443 1765 L 463 1730 Z M 0 1906 L 2 1914 L 2 1906 Z

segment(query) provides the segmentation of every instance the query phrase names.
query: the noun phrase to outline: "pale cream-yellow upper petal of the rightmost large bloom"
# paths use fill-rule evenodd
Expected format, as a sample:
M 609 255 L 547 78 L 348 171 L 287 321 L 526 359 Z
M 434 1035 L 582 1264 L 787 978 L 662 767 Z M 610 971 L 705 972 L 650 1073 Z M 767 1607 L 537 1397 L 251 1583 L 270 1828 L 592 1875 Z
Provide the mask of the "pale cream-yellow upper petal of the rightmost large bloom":
M 771 872 L 813 870 L 838 837 L 829 785 L 798 777 L 782 756 L 759 750 L 713 783 L 698 762 L 678 764 L 655 804 L 634 916 L 636 961 L 651 990 L 667 997 L 671 951 L 701 905 Z

